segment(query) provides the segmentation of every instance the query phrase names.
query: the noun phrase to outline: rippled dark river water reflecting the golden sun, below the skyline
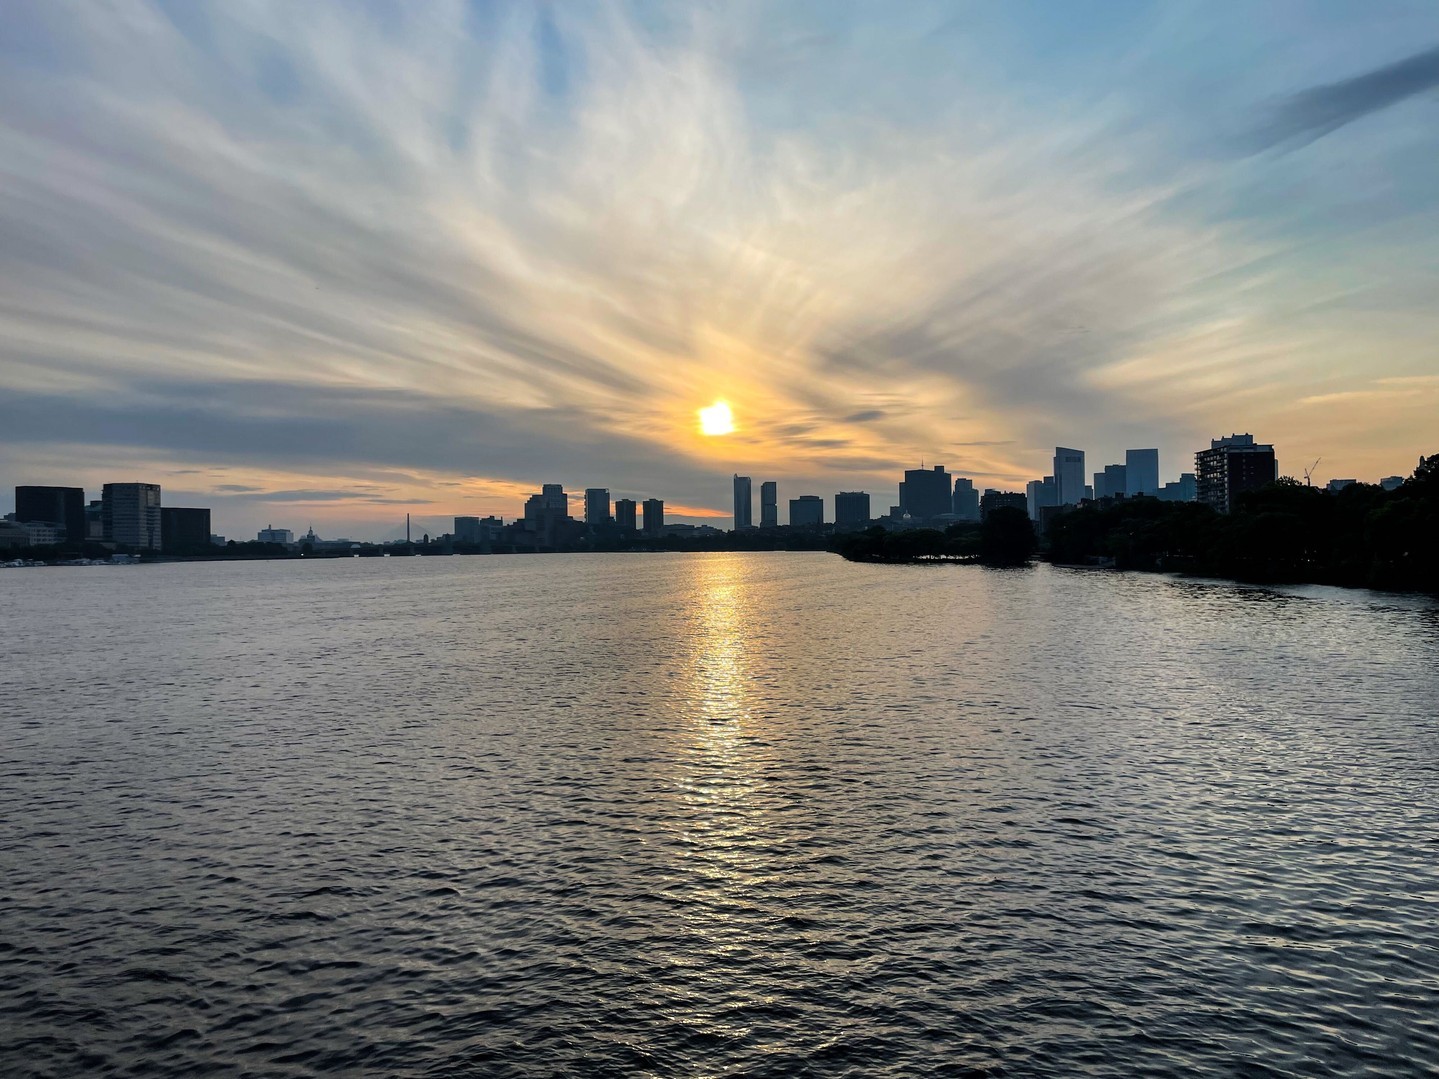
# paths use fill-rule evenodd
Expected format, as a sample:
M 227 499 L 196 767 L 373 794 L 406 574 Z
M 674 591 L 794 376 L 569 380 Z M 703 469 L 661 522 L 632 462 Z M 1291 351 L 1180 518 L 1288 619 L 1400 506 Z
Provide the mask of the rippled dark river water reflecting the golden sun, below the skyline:
M 1439 1073 L 1439 603 L 0 571 L 0 1073 Z

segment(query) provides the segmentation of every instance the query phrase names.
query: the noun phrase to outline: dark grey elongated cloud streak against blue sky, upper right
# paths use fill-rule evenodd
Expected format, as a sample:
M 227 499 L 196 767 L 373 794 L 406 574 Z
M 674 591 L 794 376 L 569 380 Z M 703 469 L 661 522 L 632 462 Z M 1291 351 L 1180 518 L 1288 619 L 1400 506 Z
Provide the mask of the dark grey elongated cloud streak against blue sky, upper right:
M 1274 108 L 1253 134 L 1256 150 L 1302 147 L 1345 124 L 1439 88 L 1439 46 L 1403 60 L 1314 86 Z

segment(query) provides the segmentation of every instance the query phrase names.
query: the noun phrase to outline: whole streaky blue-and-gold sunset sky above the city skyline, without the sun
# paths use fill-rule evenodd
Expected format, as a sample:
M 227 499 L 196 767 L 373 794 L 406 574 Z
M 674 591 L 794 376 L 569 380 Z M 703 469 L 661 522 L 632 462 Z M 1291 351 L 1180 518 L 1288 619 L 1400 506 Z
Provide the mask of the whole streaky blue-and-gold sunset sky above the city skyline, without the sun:
M 0 102 L 0 512 L 1439 452 L 1432 0 L 9 0 Z

